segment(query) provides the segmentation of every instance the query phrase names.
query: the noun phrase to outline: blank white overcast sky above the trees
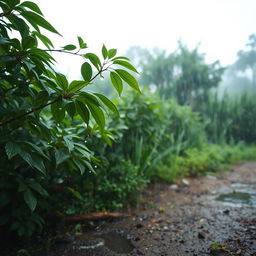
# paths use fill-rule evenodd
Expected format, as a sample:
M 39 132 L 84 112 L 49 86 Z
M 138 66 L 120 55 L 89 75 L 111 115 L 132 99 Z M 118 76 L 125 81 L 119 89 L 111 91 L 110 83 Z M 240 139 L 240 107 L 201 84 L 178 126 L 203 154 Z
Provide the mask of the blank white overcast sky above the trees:
M 36 0 L 63 35 L 56 46 L 82 36 L 100 53 L 102 44 L 124 53 L 132 45 L 173 51 L 177 40 L 199 42 L 208 62 L 235 61 L 248 36 L 256 33 L 256 0 Z

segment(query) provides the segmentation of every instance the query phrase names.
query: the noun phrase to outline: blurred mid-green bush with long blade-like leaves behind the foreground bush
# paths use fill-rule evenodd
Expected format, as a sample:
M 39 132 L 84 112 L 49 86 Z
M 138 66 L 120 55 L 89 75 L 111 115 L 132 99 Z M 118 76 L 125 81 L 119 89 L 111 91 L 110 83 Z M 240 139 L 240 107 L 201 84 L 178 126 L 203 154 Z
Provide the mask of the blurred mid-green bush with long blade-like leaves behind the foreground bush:
M 170 164 L 173 154 L 200 148 L 206 141 L 197 113 L 175 101 L 164 101 L 149 91 L 144 91 L 143 95 L 130 92 L 119 102 L 118 108 L 120 118 L 113 116 L 107 123 L 115 140 L 112 146 L 100 146 L 101 141 L 95 144 L 93 138 L 88 140 L 97 156 L 107 164 L 104 167 L 107 173 L 119 166 L 118 156 L 139 168 L 146 181 L 154 176 L 156 168 Z M 97 172 L 101 170 L 99 167 Z

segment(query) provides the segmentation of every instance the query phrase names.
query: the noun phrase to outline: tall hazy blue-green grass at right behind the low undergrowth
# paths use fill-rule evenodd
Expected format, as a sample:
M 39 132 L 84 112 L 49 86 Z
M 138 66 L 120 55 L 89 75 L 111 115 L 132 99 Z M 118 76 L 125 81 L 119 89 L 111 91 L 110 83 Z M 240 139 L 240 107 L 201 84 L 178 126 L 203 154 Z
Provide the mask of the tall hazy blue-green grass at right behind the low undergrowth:
M 205 124 L 207 138 L 213 143 L 256 142 L 255 95 L 244 93 L 218 98 L 211 95 L 207 102 L 197 106 Z

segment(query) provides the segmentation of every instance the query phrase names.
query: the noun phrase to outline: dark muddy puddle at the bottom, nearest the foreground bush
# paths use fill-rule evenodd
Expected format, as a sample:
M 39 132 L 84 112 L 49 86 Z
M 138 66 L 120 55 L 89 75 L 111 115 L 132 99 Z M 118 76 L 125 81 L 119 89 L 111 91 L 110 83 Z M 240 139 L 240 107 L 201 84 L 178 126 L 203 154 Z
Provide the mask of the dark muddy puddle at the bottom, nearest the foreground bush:
M 100 241 L 99 241 L 100 239 Z M 100 246 L 105 246 L 115 253 L 130 253 L 134 246 L 129 239 L 124 238 L 116 232 L 105 234 L 83 234 L 79 237 L 83 241 L 80 249 L 95 249 Z

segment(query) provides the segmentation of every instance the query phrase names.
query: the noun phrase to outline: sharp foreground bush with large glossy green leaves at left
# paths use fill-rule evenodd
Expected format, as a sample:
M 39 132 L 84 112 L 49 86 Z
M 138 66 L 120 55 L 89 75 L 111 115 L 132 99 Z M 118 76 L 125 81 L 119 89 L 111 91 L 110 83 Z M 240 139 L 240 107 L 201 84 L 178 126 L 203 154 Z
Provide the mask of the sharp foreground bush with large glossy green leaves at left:
M 80 36 L 55 48 L 44 31 L 60 35 L 36 3 L 0 1 L 0 227 L 20 236 L 42 228 L 44 213 L 56 209 L 56 186 L 99 164 L 86 138 L 108 141 L 104 112 L 118 111 L 86 86 L 109 72 L 119 95 L 124 83 L 139 91 L 128 72 L 136 69 L 116 49 L 103 45 L 98 56 Z M 82 78 L 56 72 L 52 52 L 82 58 Z

